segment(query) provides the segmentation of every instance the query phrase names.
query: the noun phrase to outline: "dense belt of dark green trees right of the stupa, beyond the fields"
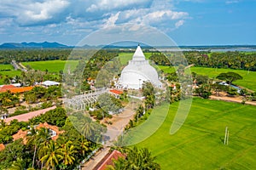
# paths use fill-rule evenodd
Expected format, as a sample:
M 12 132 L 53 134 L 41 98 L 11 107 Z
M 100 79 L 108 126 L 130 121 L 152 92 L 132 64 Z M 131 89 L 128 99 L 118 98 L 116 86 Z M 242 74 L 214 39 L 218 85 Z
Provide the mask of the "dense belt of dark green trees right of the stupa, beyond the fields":
M 256 71 L 256 53 L 184 51 L 183 54 L 189 65 Z M 167 54 L 167 57 L 164 54 L 152 54 L 149 59 L 156 65 L 175 65 L 174 55 L 174 52 Z

